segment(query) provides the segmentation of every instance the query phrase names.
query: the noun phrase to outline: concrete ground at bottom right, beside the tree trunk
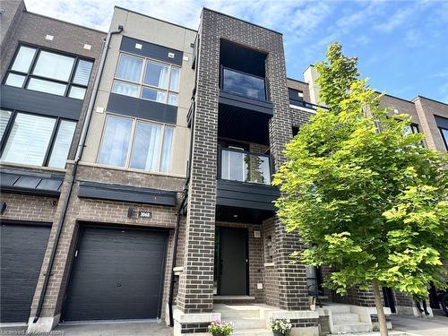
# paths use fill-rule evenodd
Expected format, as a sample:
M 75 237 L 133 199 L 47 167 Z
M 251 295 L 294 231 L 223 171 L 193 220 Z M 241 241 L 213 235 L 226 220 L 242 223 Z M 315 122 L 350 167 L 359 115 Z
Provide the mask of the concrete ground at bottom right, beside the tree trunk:
M 442 314 L 434 318 L 392 315 L 391 319 L 394 331 L 421 336 L 448 336 L 448 317 Z

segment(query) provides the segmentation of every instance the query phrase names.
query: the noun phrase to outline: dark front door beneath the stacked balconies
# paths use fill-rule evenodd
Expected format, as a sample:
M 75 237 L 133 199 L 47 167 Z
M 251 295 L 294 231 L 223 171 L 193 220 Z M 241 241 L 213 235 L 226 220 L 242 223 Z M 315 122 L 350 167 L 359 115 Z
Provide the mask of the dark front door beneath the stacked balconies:
M 220 296 L 247 295 L 247 229 L 216 228 L 215 282 Z

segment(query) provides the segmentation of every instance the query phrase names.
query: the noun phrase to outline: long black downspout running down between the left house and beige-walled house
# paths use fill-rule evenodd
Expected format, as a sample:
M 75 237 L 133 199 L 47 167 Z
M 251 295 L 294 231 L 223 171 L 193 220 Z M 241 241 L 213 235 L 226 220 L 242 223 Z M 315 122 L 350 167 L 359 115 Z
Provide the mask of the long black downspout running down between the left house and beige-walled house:
M 90 97 L 90 101 L 89 101 L 89 106 L 87 108 L 85 122 L 84 122 L 84 125 L 82 125 L 82 133 L 81 133 L 81 137 L 80 137 L 80 142 L 79 142 L 78 148 L 76 150 L 76 155 L 74 157 L 74 163 L 73 163 L 73 168 L 72 168 L 72 177 L 70 178 L 70 182 L 68 185 L 67 197 L 65 197 L 65 200 L 64 200 L 63 208 L 61 211 L 61 217 L 57 221 L 57 231 L 56 231 L 55 242 L 53 244 L 53 247 L 51 248 L 50 259 L 48 261 L 48 267 L 47 267 L 47 272 L 45 273 L 44 283 L 42 285 L 42 291 L 40 292 L 38 308 L 36 310 L 36 316 L 34 317 L 34 320 L 32 323 L 38 322 L 40 314 L 42 312 L 42 306 L 44 306 L 44 299 L 45 299 L 45 295 L 47 294 L 48 281 L 50 279 L 51 270 L 53 269 L 53 263 L 55 263 L 56 249 L 59 244 L 59 238 L 61 237 L 62 227 L 64 224 L 65 216 L 67 214 L 68 203 L 69 203 L 70 197 L 72 195 L 76 172 L 78 170 L 78 164 L 82 157 L 82 151 L 84 150 L 84 146 L 85 146 L 85 142 L 86 142 L 86 138 L 87 138 L 87 132 L 89 131 L 91 113 L 93 110 L 93 106 L 95 104 L 95 100 L 97 99 L 99 81 L 101 78 L 101 74 L 103 73 L 106 56 L 108 55 L 108 47 L 110 44 L 110 38 L 112 35 L 119 34 L 122 31 L 123 31 L 122 25 L 118 26 L 118 30 L 109 31 L 108 35 L 106 37 L 106 40 L 103 43 L 103 50 L 102 50 L 101 56 L 99 58 L 98 73 L 95 76 L 95 81 L 93 82 L 93 88 L 91 91 L 91 97 Z

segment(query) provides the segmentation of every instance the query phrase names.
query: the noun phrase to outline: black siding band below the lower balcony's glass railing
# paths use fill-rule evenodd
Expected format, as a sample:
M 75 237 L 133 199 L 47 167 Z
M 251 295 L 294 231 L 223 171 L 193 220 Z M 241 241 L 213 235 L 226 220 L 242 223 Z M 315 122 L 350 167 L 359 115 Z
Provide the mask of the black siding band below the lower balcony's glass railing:
M 271 185 L 245 184 L 237 181 L 218 180 L 216 204 L 238 208 L 275 211 L 272 203 L 279 195 L 279 189 Z

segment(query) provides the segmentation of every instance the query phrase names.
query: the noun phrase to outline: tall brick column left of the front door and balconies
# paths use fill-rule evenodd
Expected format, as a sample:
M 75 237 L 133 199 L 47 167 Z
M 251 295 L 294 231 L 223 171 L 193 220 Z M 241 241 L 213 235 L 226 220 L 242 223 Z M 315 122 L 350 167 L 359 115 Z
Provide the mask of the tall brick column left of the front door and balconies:
M 211 30 L 210 22 L 202 18 L 184 271 L 177 295 L 177 306 L 185 314 L 211 312 L 213 308 L 220 41 L 203 33 L 207 30 Z

